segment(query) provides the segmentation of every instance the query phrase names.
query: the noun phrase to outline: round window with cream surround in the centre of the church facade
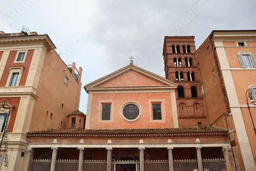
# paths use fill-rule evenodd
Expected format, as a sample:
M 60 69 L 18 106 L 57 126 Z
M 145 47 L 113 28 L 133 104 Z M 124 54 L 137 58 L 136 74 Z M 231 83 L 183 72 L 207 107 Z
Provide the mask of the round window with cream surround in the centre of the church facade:
M 133 101 L 126 102 L 120 110 L 121 117 L 127 122 L 135 122 L 141 116 L 141 106 Z

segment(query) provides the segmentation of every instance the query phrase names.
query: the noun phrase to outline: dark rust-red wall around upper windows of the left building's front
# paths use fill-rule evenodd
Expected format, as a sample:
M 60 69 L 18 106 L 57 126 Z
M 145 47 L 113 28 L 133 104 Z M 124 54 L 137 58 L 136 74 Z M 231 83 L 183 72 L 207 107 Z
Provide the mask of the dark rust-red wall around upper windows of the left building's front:
M 28 53 L 27 53 L 24 63 L 14 63 L 17 51 L 10 51 L 10 54 L 8 56 L 8 59 L 7 59 L 6 65 L 5 65 L 5 69 L 3 72 L 3 76 L 0 81 L 0 87 L 6 86 L 6 82 L 9 77 L 9 71 L 10 71 L 9 67 L 14 67 L 14 66 L 24 66 L 22 76 L 20 77 L 18 86 L 25 86 L 29 68 L 30 68 L 30 63 L 31 63 L 31 60 L 33 57 L 33 53 L 34 53 L 34 50 L 28 50 Z

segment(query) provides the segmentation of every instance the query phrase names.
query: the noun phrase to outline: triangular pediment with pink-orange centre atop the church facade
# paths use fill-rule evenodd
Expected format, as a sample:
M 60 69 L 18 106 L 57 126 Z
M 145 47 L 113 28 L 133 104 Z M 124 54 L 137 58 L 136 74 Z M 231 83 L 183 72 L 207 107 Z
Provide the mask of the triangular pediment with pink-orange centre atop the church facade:
M 173 87 L 178 84 L 167 80 L 159 75 L 146 71 L 134 65 L 126 66 L 109 75 L 106 75 L 86 86 L 88 88 L 107 88 L 107 87 Z

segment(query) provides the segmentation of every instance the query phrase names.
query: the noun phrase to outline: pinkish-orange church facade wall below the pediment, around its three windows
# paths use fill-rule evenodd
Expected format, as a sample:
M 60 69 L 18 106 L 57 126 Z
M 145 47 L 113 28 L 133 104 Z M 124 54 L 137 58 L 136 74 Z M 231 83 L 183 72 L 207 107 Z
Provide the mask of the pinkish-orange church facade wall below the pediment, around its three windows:
M 150 122 L 150 103 L 149 99 L 164 99 L 166 122 Z M 99 100 L 114 100 L 114 119 L 113 122 L 98 122 Z M 124 121 L 120 116 L 120 109 L 127 101 L 135 101 L 142 107 L 141 118 L 133 123 Z M 163 116 L 163 113 L 162 113 Z M 92 100 L 90 129 L 137 129 L 137 128 L 163 128 L 174 127 L 172 114 L 172 101 L 170 92 L 166 93 L 125 93 L 125 94 L 94 94 Z

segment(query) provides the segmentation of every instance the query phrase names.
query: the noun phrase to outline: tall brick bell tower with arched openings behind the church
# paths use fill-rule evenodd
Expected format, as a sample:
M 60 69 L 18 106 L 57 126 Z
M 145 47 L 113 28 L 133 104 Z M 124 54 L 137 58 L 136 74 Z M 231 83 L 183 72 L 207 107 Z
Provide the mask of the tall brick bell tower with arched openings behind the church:
M 179 127 L 208 125 L 194 38 L 195 36 L 164 37 L 165 78 L 179 84 L 176 90 Z

